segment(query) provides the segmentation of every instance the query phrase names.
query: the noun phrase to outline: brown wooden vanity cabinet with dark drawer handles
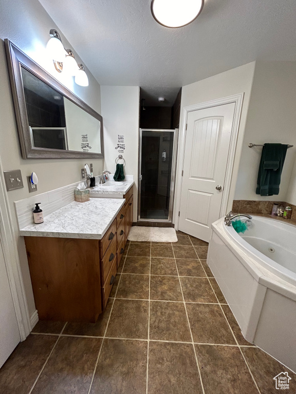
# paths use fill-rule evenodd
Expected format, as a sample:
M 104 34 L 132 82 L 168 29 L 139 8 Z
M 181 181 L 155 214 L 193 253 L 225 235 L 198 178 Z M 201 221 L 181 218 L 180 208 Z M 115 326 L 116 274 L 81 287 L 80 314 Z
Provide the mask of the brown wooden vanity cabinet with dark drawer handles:
M 124 198 L 101 240 L 24 237 L 41 320 L 97 321 L 106 307 L 132 226 L 133 188 Z

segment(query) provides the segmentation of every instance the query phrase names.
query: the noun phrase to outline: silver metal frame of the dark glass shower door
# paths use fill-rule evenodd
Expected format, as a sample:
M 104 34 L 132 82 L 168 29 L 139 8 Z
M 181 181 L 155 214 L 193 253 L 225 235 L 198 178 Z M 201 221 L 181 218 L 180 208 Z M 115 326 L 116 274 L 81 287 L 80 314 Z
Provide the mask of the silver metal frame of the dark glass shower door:
M 174 141 L 173 141 L 173 153 L 172 153 L 172 173 L 171 173 L 171 187 L 170 187 L 170 204 L 169 204 L 169 215 L 168 219 L 140 219 L 141 212 L 141 166 L 142 166 L 142 131 L 171 131 L 174 133 Z M 176 181 L 176 166 L 177 166 L 177 147 L 178 147 L 178 137 L 179 137 L 179 129 L 147 129 L 147 128 L 139 128 L 139 178 L 138 178 L 138 211 L 137 211 L 137 221 L 138 222 L 173 222 L 173 214 L 174 214 L 174 196 L 175 196 L 175 181 Z

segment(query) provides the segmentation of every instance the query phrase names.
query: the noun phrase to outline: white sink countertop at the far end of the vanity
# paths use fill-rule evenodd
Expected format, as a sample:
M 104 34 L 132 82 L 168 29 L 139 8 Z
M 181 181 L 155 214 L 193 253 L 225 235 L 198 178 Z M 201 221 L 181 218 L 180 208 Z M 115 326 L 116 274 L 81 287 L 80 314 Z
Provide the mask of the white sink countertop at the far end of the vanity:
M 96 176 L 96 186 L 89 189 L 89 196 L 122 199 L 123 195 L 134 185 L 134 175 L 125 175 L 125 180 L 121 182 L 115 182 L 113 176 L 114 174 L 108 174 L 109 180 L 102 185 L 99 184 L 100 179 Z M 123 185 L 119 186 L 119 184 Z

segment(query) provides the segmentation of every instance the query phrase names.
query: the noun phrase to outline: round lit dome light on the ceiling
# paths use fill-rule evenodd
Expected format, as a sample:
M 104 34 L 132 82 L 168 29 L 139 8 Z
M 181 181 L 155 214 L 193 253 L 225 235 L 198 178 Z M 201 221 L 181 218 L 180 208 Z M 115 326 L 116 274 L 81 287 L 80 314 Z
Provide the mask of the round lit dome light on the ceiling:
M 202 7 L 204 0 L 152 0 L 151 12 L 160 25 L 176 28 L 193 22 Z

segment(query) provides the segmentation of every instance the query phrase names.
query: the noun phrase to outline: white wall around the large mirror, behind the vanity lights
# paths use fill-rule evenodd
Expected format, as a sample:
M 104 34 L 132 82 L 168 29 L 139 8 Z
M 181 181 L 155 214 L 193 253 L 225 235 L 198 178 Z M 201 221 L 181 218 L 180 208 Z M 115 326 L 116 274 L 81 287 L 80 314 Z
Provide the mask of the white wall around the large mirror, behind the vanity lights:
M 35 62 L 39 63 L 47 71 L 78 95 L 90 107 L 97 112 L 100 108 L 100 85 L 86 68 L 89 78 L 89 86 L 81 87 L 73 83 L 73 78 L 65 78 L 58 74 L 45 52 L 49 40 L 49 30 L 57 28 L 52 19 L 46 13 L 38 0 L 13 0 L 12 2 L 0 2 L 0 38 L 8 38 L 18 48 L 27 53 Z M 70 37 L 69 37 L 70 39 Z M 72 48 L 66 38 L 62 35 L 63 44 Z M 62 187 L 80 180 L 80 169 L 85 164 L 83 160 L 23 160 L 21 156 L 20 143 L 15 122 L 14 107 L 12 103 L 11 88 L 6 63 L 6 55 L 3 41 L 0 42 L 0 158 L 4 171 L 21 169 L 25 187 L 7 193 L 10 204 L 12 225 L 20 255 L 22 274 L 27 295 L 29 312 L 35 310 L 34 299 L 31 289 L 31 280 L 28 269 L 24 240 L 18 237 L 18 228 L 14 212 L 13 202 L 27 198 L 29 191 L 26 175 L 32 171 L 38 174 L 40 183 L 38 192 L 46 192 Z M 75 52 L 75 48 L 72 48 Z M 80 61 L 75 53 L 76 59 Z M 94 173 L 102 172 L 103 160 L 91 159 L 94 164 Z

